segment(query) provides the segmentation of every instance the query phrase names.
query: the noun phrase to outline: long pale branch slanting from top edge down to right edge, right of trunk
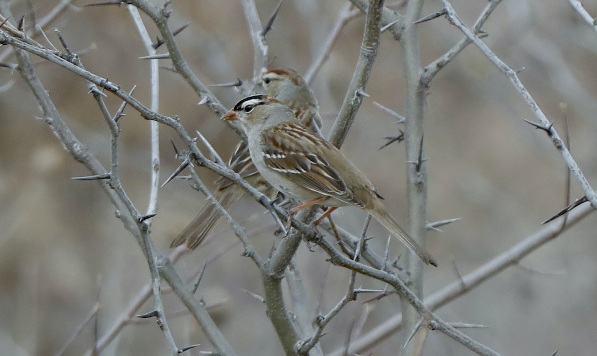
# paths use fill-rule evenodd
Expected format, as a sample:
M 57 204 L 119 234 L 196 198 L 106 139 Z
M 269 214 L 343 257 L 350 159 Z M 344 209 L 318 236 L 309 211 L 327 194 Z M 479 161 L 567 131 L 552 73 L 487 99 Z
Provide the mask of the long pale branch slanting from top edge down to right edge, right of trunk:
M 494 52 L 491 51 L 489 47 L 487 47 L 487 45 L 485 45 L 477 36 L 475 36 L 475 34 L 471 30 L 464 26 L 460 18 L 458 18 L 458 15 L 454 11 L 454 8 L 450 4 L 450 2 L 448 2 L 447 0 L 442 0 L 442 3 L 448 11 L 448 19 L 450 20 L 450 22 L 453 23 L 454 26 L 458 27 L 458 29 L 460 29 L 464 33 L 464 35 L 466 35 L 467 38 L 469 38 L 470 41 L 472 41 L 476 45 L 476 47 L 479 48 L 479 50 L 485 55 L 485 57 L 487 57 L 491 61 L 491 63 L 493 63 L 494 66 L 496 66 L 497 69 L 500 70 L 500 72 L 503 72 L 510 79 L 510 82 L 512 82 L 512 85 L 514 85 L 516 91 L 519 92 L 519 94 L 521 95 L 525 103 L 527 103 L 528 107 L 530 107 L 531 111 L 535 114 L 541 125 L 543 125 L 544 127 L 548 127 L 550 125 L 549 120 L 547 120 L 547 117 L 545 116 L 543 111 L 541 111 L 536 101 L 533 99 L 533 97 L 531 97 L 531 94 L 529 94 L 527 88 L 525 88 L 525 86 L 522 85 L 522 82 L 520 81 L 520 79 L 518 79 L 518 75 L 516 75 L 515 70 L 512 70 L 512 68 L 507 66 L 506 63 L 501 61 L 500 58 L 498 58 L 497 55 L 494 54 Z M 564 158 L 564 161 L 568 165 L 568 169 L 570 169 L 570 171 L 574 174 L 574 176 L 580 183 L 580 187 L 584 192 L 584 196 L 586 196 L 589 202 L 591 202 L 593 208 L 597 209 L 597 194 L 595 194 L 595 191 L 589 184 L 589 181 L 587 181 L 586 177 L 584 177 L 583 172 L 581 172 L 580 168 L 578 168 L 576 161 L 571 156 L 570 151 L 568 151 L 568 148 L 566 148 L 564 141 L 562 141 L 562 139 L 558 135 L 558 132 L 556 132 L 556 130 L 553 128 L 550 130 L 549 136 L 552 139 L 553 145 L 558 149 L 558 151 Z

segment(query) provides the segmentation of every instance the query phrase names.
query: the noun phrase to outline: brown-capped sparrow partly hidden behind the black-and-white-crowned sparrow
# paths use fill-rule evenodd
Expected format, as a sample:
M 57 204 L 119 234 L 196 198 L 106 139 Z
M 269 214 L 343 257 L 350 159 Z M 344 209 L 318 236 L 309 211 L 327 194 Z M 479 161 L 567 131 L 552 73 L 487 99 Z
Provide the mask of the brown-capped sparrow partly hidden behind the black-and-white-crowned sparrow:
M 321 116 L 319 116 L 317 100 L 300 74 L 293 69 L 272 69 L 261 76 L 261 84 L 267 95 L 275 97 L 289 106 L 300 122 L 321 135 Z M 274 197 L 277 193 L 277 190 L 273 189 L 257 172 L 251 161 L 247 144 L 243 141 L 236 146 L 228 161 L 228 167 L 240 174 L 242 178 L 247 179 L 261 193 L 269 197 Z M 214 197 L 226 210 L 244 194 L 241 187 L 232 184 L 226 178 L 218 179 L 216 186 Z M 176 247 L 186 242 L 187 248 L 196 249 L 211 233 L 221 217 L 220 212 L 212 204 L 206 204 L 193 221 L 173 240 L 170 247 Z

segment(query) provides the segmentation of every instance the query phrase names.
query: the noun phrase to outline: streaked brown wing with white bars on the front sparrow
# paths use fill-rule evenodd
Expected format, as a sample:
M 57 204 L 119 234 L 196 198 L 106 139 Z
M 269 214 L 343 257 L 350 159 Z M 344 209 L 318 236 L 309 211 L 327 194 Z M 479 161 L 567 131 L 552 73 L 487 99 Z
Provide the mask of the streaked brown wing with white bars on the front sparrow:
M 285 123 L 266 129 L 261 135 L 261 154 L 270 169 L 322 196 L 364 206 L 325 157 L 325 150 L 336 148 L 304 125 Z

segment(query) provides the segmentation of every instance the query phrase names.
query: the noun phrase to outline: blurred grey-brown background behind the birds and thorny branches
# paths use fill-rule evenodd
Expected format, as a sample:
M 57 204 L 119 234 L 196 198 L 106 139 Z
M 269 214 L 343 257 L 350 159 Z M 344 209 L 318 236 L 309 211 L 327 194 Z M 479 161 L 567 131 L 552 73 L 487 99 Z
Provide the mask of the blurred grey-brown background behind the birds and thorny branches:
M 161 5 L 161 1 L 154 1 Z M 135 96 L 149 105 L 149 63 L 136 27 L 124 6 L 81 8 L 75 1 L 48 29 L 58 44 L 54 27 L 73 51 L 82 51 L 82 62 L 124 89 L 137 85 Z M 388 6 L 404 11 L 403 1 Z M 20 18 L 30 7 L 38 18 L 59 0 L 13 1 Z M 257 0 L 261 20 L 272 14 L 278 0 Z M 487 1 L 454 0 L 453 5 L 469 26 Z M 292 67 L 304 73 L 324 46 L 341 0 L 286 0 L 274 29 L 269 33 L 272 67 Z M 597 3 L 584 2 L 597 16 Z M 176 1 L 170 26 L 189 23 L 177 36 L 186 60 L 206 84 L 248 79 L 253 49 L 239 1 Z M 423 14 L 441 10 L 441 1 L 426 1 Z M 152 36 L 157 30 L 144 17 Z M 362 38 L 364 16 L 350 21 L 338 38 L 330 59 L 313 81 L 312 88 L 324 114 L 325 132 L 340 107 L 352 76 Z M 597 33 L 584 23 L 567 1 L 504 1 L 484 26 L 490 48 L 519 76 L 558 132 L 564 134 L 566 111 L 571 150 L 592 184 L 597 185 Z M 421 57 L 427 64 L 444 54 L 463 36 L 444 17 L 421 24 Z M 41 39 L 40 42 L 43 42 Z M 0 48 L 7 51 L 8 48 Z M 163 49 L 165 51 L 165 49 Z M 14 62 L 13 57 L 9 61 Z M 61 115 L 79 140 L 109 165 L 109 131 L 96 101 L 87 94 L 85 82 L 40 58 L 32 58 L 36 70 Z M 169 66 L 167 60 L 163 66 Z M 179 115 L 189 132 L 201 131 L 222 157 L 231 153 L 238 138 L 215 114 L 196 104 L 199 98 L 175 73 L 162 70 L 160 112 Z M 381 36 L 381 47 L 367 93 L 343 152 L 364 171 L 386 198 L 386 206 L 398 221 L 407 222 L 404 144 L 378 150 L 385 136 L 397 135 L 401 125 L 373 101 L 403 112 L 402 53 L 392 35 Z M 100 303 L 97 333 L 93 323 L 66 349 L 64 355 L 82 355 L 96 337 L 121 315 L 149 280 L 147 264 L 133 237 L 115 218 L 106 195 L 94 182 L 73 181 L 88 175 L 36 117 L 42 115 L 35 98 L 19 73 L 0 70 L 0 354 L 53 355 L 78 329 L 96 302 Z M 9 87 L 10 86 L 10 87 Z M 213 88 L 225 106 L 241 95 L 231 88 Z M 462 218 L 443 233 L 431 231 L 427 249 L 439 268 L 429 268 L 425 293 L 429 295 L 466 274 L 493 256 L 509 249 L 540 228 L 540 222 L 565 203 L 565 165 L 546 135 L 521 118 L 534 120 L 530 109 L 478 49 L 464 49 L 433 80 L 427 96 L 425 144 L 429 173 L 429 219 Z M 120 101 L 109 95 L 110 110 Z M 149 187 L 149 123 L 127 109 L 121 119 L 121 171 L 125 190 L 144 211 Z M 162 181 L 179 165 L 170 139 L 177 135 L 161 128 Z M 198 168 L 211 184 L 216 178 Z M 213 187 L 213 185 L 210 185 Z M 573 199 L 581 191 L 572 182 Z M 202 194 L 186 181 L 175 180 L 162 188 L 158 216 L 153 220 L 153 239 L 168 253 L 177 233 L 205 204 Z M 272 219 L 252 199 L 236 203 L 230 211 L 243 221 L 256 249 L 267 255 L 275 237 Z M 365 215 L 358 209 L 338 210 L 336 222 L 358 234 Z M 490 329 L 467 330 L 476 340 L 502 354 L 593 354 L 597 349 L 597 219 L 585 218 L 562 236 L 546 244 L 457 301 L 439 309 L 447 321 L 484 324 Z M 371 244 L 383 250 L 387 231 L 371 225 L 376 235 Z M 282 348 L 266 316 L 265 307 L 244 292 L 262 293 L 259 271 L 230 228 L 221 223 L 199 250 L 185 255 L 179 270 L 190 276 L 206 261 L 200 293 L 224 335 L 242 355 L 280 355 Z M 235 244 L 236 243 L 236 244 Z M 230 247 L 232 246 L 232 247 Z M 393 241 L 392 256 L 404 251 Z M 301 246 L 298 268 L 315 309 L 327 312 L 346 292 L 349 273 L 330 267 L 327 256 Z M 357 286 L 383 289 L 383 284 L 359 277 Z M 325 286 L 325 287 L 324 287 Z M 323 292 L 322 292 L 323 290 Z M 184 307 L 165 294 L 167 314 Z M 396 296 L 362 304 L 360 296 L 328 326 L 322 339 L 324 352 L 344 344 L 353 321 L 367 332 L 399 312 Z M 152 310 L 152 302 L 137 314 Z M 211 345 L 189 315 L 169 318 L 177 345 L 201 343 L 187 351 L 198 355 Z M 353 336 L 356 338 L 358 336 Z M 395 354 L 400 343 L 396 333 L 371 349 L 374 355 Z M 428 355 L 467 353 L 453 340 L 432 332 Z M 151 320 L 125 327 L 103 355 L 155 355 L 167 352 L 161 331 Z M 369 352 L 364 352 L 369 354 Z

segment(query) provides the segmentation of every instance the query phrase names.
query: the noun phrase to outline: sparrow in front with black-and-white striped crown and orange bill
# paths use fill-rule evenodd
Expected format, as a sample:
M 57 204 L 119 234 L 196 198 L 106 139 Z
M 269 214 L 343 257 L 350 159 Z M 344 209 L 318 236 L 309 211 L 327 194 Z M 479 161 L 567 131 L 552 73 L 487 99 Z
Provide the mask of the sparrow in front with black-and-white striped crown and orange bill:
M 251 159 L 272 187 L 306 202 L 290 209 L 291 216 L 311 205 L 329 206 L 312 222 L 316 227 L 338 207 L 358 206 L 426 264 L 437 266 L 430 253 L 387 212 L 369 179 L 338 148 L 300 123 L 288 106 L 267 95 L 252 95 L 222 119 L 242 123 Z

